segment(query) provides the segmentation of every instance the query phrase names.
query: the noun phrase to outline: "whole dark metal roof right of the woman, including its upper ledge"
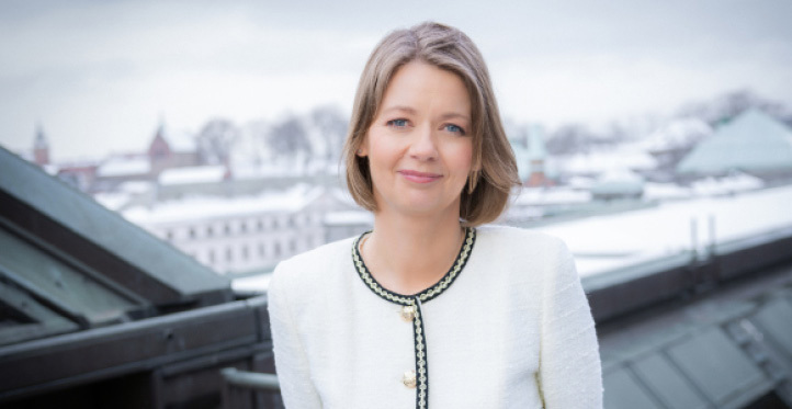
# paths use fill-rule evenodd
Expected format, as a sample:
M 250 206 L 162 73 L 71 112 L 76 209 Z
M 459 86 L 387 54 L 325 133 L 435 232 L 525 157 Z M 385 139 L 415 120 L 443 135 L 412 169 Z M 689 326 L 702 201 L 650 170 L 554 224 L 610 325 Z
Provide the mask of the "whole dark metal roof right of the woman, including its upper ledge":
M 606 408 L 792 408 L 791 227 L 582 284 Z

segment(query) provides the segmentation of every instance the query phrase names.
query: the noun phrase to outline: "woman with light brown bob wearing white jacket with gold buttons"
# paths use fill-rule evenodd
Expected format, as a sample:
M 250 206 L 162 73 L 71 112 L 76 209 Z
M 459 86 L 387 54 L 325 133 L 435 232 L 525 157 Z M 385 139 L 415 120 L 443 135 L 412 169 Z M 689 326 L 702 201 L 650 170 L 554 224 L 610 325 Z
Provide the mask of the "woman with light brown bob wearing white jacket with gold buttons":
M 437 23 L 387 35 L 344 149 L 374 228 L 275 269 L 286 407 L 601 407 L 593 321 L 564 245 L 478 227 L 519 180 L 471 39 Z

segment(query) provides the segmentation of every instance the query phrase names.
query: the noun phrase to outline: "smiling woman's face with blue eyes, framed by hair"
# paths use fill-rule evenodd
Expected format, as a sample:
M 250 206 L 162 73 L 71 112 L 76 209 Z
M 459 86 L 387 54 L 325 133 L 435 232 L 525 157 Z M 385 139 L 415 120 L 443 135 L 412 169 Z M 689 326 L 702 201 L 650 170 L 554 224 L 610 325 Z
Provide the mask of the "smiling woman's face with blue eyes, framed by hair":
M 399 68 L 358 151 L 369 158 L 377 213 L 459 217 L 471 128 L 462 79 L 420 61 Z

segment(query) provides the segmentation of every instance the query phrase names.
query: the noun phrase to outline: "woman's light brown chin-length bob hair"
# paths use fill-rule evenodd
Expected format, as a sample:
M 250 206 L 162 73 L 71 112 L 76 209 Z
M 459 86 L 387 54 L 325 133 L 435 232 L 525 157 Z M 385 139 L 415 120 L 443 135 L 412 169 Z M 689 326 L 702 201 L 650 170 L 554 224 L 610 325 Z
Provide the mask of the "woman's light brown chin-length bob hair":
M 479 226 L 498 218 L 511 188 L 520 184 L 517 161 L 500 122 L 489 72 L 475 44 L 457 29 L 426 22 L 392 32 L 374 48 L 363 69 L 354 96 L 349 133 L 343 147 L 347 185 L 355 202 L 376 212 L 369 159 L 357 156 L 396 71 L 421 61 L 459 76 L 471 99 L 473 162 L 461 192 L 460 218 Z

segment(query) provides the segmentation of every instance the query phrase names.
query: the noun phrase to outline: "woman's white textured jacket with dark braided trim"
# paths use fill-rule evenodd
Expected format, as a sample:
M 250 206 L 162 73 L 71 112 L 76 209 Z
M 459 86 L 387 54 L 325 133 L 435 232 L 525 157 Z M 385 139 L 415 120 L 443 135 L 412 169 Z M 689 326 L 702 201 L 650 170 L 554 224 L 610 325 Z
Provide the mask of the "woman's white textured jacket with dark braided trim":
M 387 299 L 398 295 L 363 280 L 353 242 L 283 261 L 270 282 L 287 408 L 602 407 L 593 320 L 561 240 L 511 227 L 468 230 L 466 264 L 422 298 L 404 296 L 418 307 L 412 321 Z M 427 380 L 405 386 L 405 373 L 421 367 Z

